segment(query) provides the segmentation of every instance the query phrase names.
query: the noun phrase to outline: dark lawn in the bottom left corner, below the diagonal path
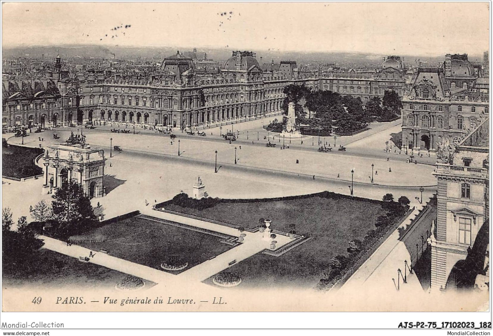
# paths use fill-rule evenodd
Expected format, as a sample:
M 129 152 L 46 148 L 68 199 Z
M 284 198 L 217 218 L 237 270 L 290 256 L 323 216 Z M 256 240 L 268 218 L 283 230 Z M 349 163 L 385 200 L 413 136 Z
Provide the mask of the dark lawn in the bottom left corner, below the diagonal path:
M 3 269 L 3 288 L 40 287 L 114 289 L 127 276 L 113 269 L 82 263 L 75 258 L 41 248 L 28 263 L 16 270 Z M 146 288 L 154 285 L 145 281 Z

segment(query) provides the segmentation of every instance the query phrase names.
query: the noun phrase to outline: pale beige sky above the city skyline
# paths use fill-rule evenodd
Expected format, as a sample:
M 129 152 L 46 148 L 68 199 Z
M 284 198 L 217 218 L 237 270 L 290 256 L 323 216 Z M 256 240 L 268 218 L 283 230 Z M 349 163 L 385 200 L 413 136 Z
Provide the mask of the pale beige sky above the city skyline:
M 488 2 L 3 2 L 2 46 L 481 55 L 489 17 Z

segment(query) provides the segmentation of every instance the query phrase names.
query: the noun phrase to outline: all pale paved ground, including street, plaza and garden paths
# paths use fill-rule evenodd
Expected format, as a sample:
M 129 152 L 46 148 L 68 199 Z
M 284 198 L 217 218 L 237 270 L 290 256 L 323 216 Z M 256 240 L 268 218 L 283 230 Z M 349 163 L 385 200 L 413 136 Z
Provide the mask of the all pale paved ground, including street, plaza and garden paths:
M 241 135 L 239 140 L 231 144 L 219 136 L 219 132 L 222 133 L 225 127 L 222 130 L 218 128 L 207 130 L 212 132 L 212 135 L 208 134 L 206 137 L 186 136 L 176 132 L 177 137 L 173 143 L 169 135 L 155 134 L 149 130 L 139 130 L 137 133 L 141 134 L 117 134 L 107 131 L 109 129 L 107 126 L 95 130 L 84 129 L 83 133 L 87 136 L 89 144 L 105 149 L 107 158 L 105 174 L 117 182 L 117 186 L 107 191 L 105 197 L 93 199 L 91 202 L 93 206 L 99 203 L 103 207 L 105 219 L 140 210 L 145 215 L 238 236 L 239 232 L 236 229 L 182 216 L 171 218 L 173 216 L 170 214 L 152 210 L 152 205 L 169 200 L 181 191 L 191 195 L 192 185 L 197 176 L 204 181 L 209 196 L 226 199 L 273 198 L 324 190 L 349 195 L 351 169 L 354 170 L 354 196 L 381 200 L 386 193 L 392 193 L 396 199 L 405 195 L 412 202 L 411 205 L 420 206 L 419 200 L 416 199 L 421 196 L 419 187 L 426 186 L 423 192 L 424 202 L 436 190 L 436 181 L 431 175 L 434 167 L 431 164 L 409 164 L 406 162 L 408 156 L 404 153 L 385 151 L 385 141 L 390 138 L 391 133 L 398 132 L 400 128 L 398 123 L 375 124 L 375 129 L 367 131 L 366 134 L 336 138 L 336 144 L 347 145 L 346 152 L 318 153 L 314 148 L 317 147 L 317 143 L 315 146 L 291 143 L 289 149 L 281 150 L 278 139 L 278 147 L 265 147 L 268 139 L 263 139 L 259 135 L 259 140 L 256 140 L 255 134 L 255 132 L 260 134 L 261 131 L 256 130 L 262 128 L 262 122 L 267 121 L 255 120 L 233 125 L 235 131 L 238 127 Z M 39 147 L 39 144 L 45 147 L 49 144 L 61 143 L 69 137 L 70 131 L 78 130 L 57 129 L 36 134 L 44 137 L 44 141 L 39 141 L 38 136 L 31 134 L 24 138 L 24 143 L 32 147 Z M 247 141 L 242 138 L 246 131 L 248 137 L 250 133 L 255 135 L 255 139 L 251 140 L 253 143 L 250 139 Z M 53 133 L 57 133 L 60 139 L 53 139 Z M 109 155 L 110 137 L 111 145 L 118 145 L 123 149 L 120 153 L 112 151 L 112 157 Z M 271 135 L 269 140 L 273 141 L 270 137 Z M 179 156 L 178 139 L 180 140 Z M 20 144 L 22 139 L 10 137 L 8 141 L 12 144 Z M 288 143 L 285 145 L 287 147 Z M 234 163 L 235 147 L 237 164 Z M 214 153 L 216 150 L 217 163 Z M 296 160 L 299 163 L 296 163 Z M 428 158 L 429 162 L 434 160 L 433 157 Z M 372 164 L 374 164 L 373 184 Z M 216 167 L 218 172 L 214 173 Z M 3 180 L 6 182 L 3 185 L 3 206 L 12 209 L 14 218 L 28 215 L 29 206 L 34 206 L 41 199 L 50 201 L 50 195 L 41 195 L 42 179 L 25 182 Z M 19 199 L 24 202 L 19 202 Z M 246 233 L 245 241 L 239 246 L 179 275 L 117 260 L 103 253 L 99 253 L 97 259 L 91 259 L 91 262 L 158 284 L 178 284 L 179 281 L 176 282 L 178 277 L 200 283 L 228 268 L 228 263 L 232 260 L 239 263 L 268 248 L 270 242 L 261 239 L 259 235 L 261 234 Z M 400 249 L 399 243 L 396 243 L 397 238 L 398 233 L 395 231 L 353 274 L 341 291 L 344 292 L 354 286 L 366 286 L 368 281 L 375 286 L 382 285 L 380 280 L 388 277 L 389 268 L 393 268 L 394 263 L 400 259 L 406 258 L 405 249 Z M 279 248 L 287 243 L 289 238 L 278 237 L 277 240 Z M 51 238 L 45 240 L 45 248 L 74 258 L 89 253 L 89 250 L 83 250 L 82 247 L 74 245 L 66 247 L 63 246 L 64 244 Z M 412 283 L 411 276 L 409 284 Z M 419 285 L 418 281 L 416 283 Z

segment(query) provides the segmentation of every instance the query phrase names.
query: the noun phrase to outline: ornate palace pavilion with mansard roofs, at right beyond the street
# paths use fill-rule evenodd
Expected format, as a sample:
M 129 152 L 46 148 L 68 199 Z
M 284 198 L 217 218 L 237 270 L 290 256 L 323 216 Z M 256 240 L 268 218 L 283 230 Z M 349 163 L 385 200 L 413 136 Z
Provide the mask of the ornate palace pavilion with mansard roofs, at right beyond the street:
M 489 80 L 467 54 L 439 67 L 418 67 L 402 109 L 402 149 L 458 144 L 489 117 Z

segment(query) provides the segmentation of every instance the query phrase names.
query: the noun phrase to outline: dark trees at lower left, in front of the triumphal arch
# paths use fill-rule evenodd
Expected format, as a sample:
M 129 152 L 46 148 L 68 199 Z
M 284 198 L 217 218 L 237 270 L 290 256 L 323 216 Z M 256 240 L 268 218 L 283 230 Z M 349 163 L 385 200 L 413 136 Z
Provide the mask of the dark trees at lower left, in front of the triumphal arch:
M 33 256 L 43 245 L 37 233 L 66 240 L 97 223 L 91 202 L 78 183 L 63 183 L 52 197 L 51 204 L 42 200 L 35 205 L 31 211 L 33 222 L 28 224 L 25 216 L 20 217 L 16 230 L 12 230 L 14 223 L 10 209 L 2 210 L 2 262 L 5 268 L 22 267 Z

